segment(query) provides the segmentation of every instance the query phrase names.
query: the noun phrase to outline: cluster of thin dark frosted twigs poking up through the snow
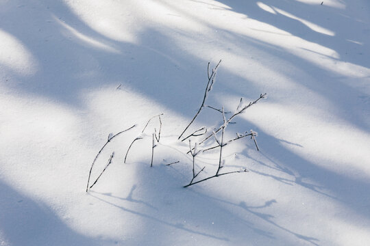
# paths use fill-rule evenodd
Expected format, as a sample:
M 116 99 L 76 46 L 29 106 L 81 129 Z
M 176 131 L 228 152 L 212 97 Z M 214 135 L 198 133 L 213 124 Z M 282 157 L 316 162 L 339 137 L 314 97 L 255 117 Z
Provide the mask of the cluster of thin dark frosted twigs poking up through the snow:
M 218 128 L 214 128 L 214 130 L 212 131 L 212 133 L 208 134 L 207 137 L 204 137 L 204 139 L 202 139 L 198 143 L 195 143 L 193 145 L 193 147 L 192 147 L 192 144 L 191 144 L 191 140 L 190 139 L 192 139 L 194 137 L 199 137 L 199 136 L 202 136 L 202 135 L 206 135 L 206 133 L 208 132 L 208 128 L 206 126 L 203 126 L 203 127 L 199 128 L 199 129 L 193 131 L 193 133 L 190 133 L 186 137 L 183 137 L 183 139 L 181 140 L 181 141 L 185 141 L 186 139 L 188 139 L 188 141 L 189 141 L 189 151 L 187 152 L 187 154 L 190 153 L 191 156 L 192 156 L 192 158 L 193 158 L 193 177 L 191 178 L 190 182 L 188 184 L 186 184 L 184 187 L 189 187 L 189 186 L 191 186 L 193 184 L 198 184 L 199 182 L 204 182 L 204 181 L 209 180 L 211 178 L 216 178 L 216 177 L 223 176 L 223 175 L 226 175 L 226 174 L 234 174 L 234 173 L 240 173 L 240 172 L 248 172 L 247 169 L 242 169 L 242 170 L 239 170 L 239 171 L 231 171 L 231 172 L 221 172 L 221 169 L 225 165 L 225 160 L 223 159 L 223 148 L 225 148 L 225 146 L 229 145 L 230 143 L 232 143 L 234 141 L 237 141 L 239 139 L 243 139 L 245 137 L 250 137 L 251 140 L 254 141 L 254 144 L 256 145 L 256 149 L 259 151 L 259 148 L 258 148 L 258 145 L 257 145 L 257 141 L 256 141 L 256 136 L 257 136 L 257 133 L 256 132 L 254 132 L 254 131 L 251 130 L 249 132 L 246 131 L 245 133 L 241 133 L 241 134 L 236 133 L 236 137 L 234 137 L 233 139 L 225 140 L 225 129 L 227 128 L 228 124 L 234 124 L 235 123 L 235 122 L 232 122 L 232 120 L 237 115 L 243 113 L 246 109 L 248 109 L 252 105 L 255 105 L 262 98 L 265 98 L 267 94 L 266 93 L 265 94 L 260 94 L 260 97 L 259 98 L 257 98 L 256 100 L 254 100 L 252 102 L 249 102 L 249 104 L 247 104 L 247 105 L 244 104 L 243 98 L 240 98 L 240 102 L 239 102 L 238 107 L 236 107 L 236 110 L 234 111 L 234 113 L 232 113 L 232 115 L 230 115 L 230 117 L 226 117 L 225 116 L 225 114 L 231 113 L 231 112 L 225 112 L 224 107 L 222 107 L 222 109 L 217 109 L 216 107 L 212 107 L 210 105 L 206 105 L 206 99 L 208 98 L 208 94 L 210 93 L 210 91 L 212 90 L 212 87 L 214 85 L 214 81 L 216 79 L 216 74 L 217 74 L 217 69 L 219 68 L 220 63 L 221 63 L 221 60 L 219 61 L 219 63 L 214 68 L 212 68 L 212 71 L 210 71 L 210 63 L 208 62 L 208 67 L 207 67 L 208 83 L 206 85 L 206 90 L 204 92 L 203 100 L 201 102 L 201 105 L 200 105 L 197 113 L 195 113 L 193 119 L 184 128 L 184 131 L 182 131 L 182 133 L 178 137 L 178 139 L 181 139 L 183 137 L 184 133 L 186 133 L 186 131 L 188 131 L 188 128 L 190 127 L 190 125 L 193 124 L 193 122 L 195 122 L 195 119 L 197 118 L 197 116 L 199 115 L 199 113 L 201 113 L 201 110 L 204 109 L 205 107 L 210 108 L 210 109 L 214 109 L 215 111 L 218 111 L 219 113 L 221 113 L 222 120 L 223 120 L 222 124 Z M 140 139 L 143 139 L 146 136 L 150 136 L 148 134 L 145 134 L 145 130 L 147 129 L 147 126 L 149 125 L 149 123 L 151 122 L 151 120 L 153 120 L 155 118 L 158 118 L 158 123 L 159 123 L 158 131 L 157 131 L 157 128 L 154 128 L 153 132 L 151 132 L 151 163 L 150 163 L 150 166 L 153 167 L 154 148 L 156 148 L 156 146 L 158 146 L 158 143 L 160 142 L 160 137 L 161 137 L 160 136 L 161 130 L 162 130 L 162 119 L 161 119 L 161 115 L 163 115 L 163 113 L 161 113 L 159 115 L 155 115 L 152 118 L 150 118 L 148 120 L 147 124 L 145 125 L 145 127 L 143 128 L 143 131 L 141 131 L 140 135 L 138 135 L 130 143 L 130 146 L 127 148 L 127 152 L 125 154 L 124 163 L 126 163 L 127 155 L 130 152 L 130 150 L 131 150 L 132 146 L 134 145 L 134 143 L 136 141 L 140 140 Z M 110 143 L 110 141 L 112 141 L 112 139 L 114 139 L 114 137 L 117 137 L 118 135 L 121 135 L 121 133 L 125 133 L 126 131 L 129 131 L 130 129 L 134 128 L 134 126 L 131 126 L 130 128 L 127 128 L 126 130 L 121 131 L 119 133 L 116 133 L 116 135 L 113 135 L 112 133 L 110 133 L 110 135 L 108 136 L 108 140 L 103 145 L 103 147 L 99 150 L 97 156 L 95 156 L 95 159 L 94 159 L 93 163 L 91 164 L 90 172 L 88 174 L 88 182 L 87 182 L 87 186 L 86 186 L 86 192 L 88 192 L 88 189 L 91 189 L 97 183 L 97 181 L 99 180 L 99 178 L 101 177 L 101 175 L 103 174 L 103 172 L 105 172 L 106 169 L 108 168 L 108 166 L 112 163 L 112 159 L 114 157 L 114 152 L 112 152 L 112 154 L 110 155 L 110 158 L 108 159 L 108 163 L 106 164 L 106 167 L 104 167 L 104 169 L 101 172 L 101 174 L 99 174 L 99 176 L 97 177 L 97 179 L 95 180 L 95 182 L 93 182 L 93 184 L 90 185 L 90 187 L 89 187 L 91 172 L 93 170 L 93 167 L 95 165 L 95 162 L 97 161 L 98 156 L 101 154 L 101 152 L 103 151 L 103 149 L 108 145 L 108 143 Z M 205 148 L 203 150 L 198 150 L 199 146 L 201 146 L 201 144 L 203 144 L 206 141 L 208 141 L 209 139 L 211 139 L 211 137 L 214 138 L 215 145 L 212 146 L 212 147 L 209 147 L 209 148 Z M 203 172 L 206 167 L 203 167 L 198 172 L 196 172 L 195 171 L 195 157 L 199 153 L 201 154 L 201 153 L 207 152 L 209 150 L 214 150 L 214 149 L 217 149 L 217 148 L 219 148 L 219 164 L 218 164 L 218 167 L 217 167 L 216 172 L 214 173 L 214 175 L 206 176 L 205 178 L 204 177 L 199 178 L 200 177 L 199 174 L 201 174 L 201 172 Z M 179 162 L 180 161 L 175 161 L 173 163 L 167 164 L 167 166 L 173 165 L 173 164 L 179 163 Z

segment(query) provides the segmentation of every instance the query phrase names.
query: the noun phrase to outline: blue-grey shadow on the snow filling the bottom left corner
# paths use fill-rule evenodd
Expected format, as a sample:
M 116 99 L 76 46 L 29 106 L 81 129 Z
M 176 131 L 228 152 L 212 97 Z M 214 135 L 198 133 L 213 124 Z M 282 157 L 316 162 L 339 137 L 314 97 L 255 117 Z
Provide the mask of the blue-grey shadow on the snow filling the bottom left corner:
M 0 182 L 0 227 L 5 245 L 101 245 L 69 228 L 50 208 Z

